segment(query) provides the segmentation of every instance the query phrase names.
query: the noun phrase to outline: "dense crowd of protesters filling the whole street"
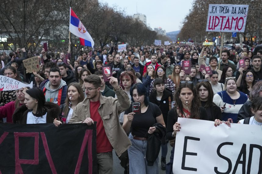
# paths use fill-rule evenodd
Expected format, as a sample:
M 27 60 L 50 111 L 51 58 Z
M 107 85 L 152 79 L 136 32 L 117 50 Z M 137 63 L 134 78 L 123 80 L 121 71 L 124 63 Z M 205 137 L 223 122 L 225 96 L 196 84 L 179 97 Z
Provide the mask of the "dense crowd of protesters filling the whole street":
M 132 46 L 122 52 L 112 46 L 81 50 L 74 57 L 70 43 L 60 53 L 17 49 L 1 55 L 0 75 L 33 81 L 34 87 L 1 91 L 0 118 L 55 126 L 96 121 L 98 173 L 113 173 L 113 149 L 124 173 L 159 173 L 160 148 L 161 169 L 172 173 L 174 140 L 182 130 L 178 117 L 214 121 L 215 126 L 262 125 L 261 54 L 247 46 L 197 43 Z M 25 73 L 23 60 L 31 56 L 38 56 L 41 69 Z M 241 59 L 245 67 L 239 68 Z M 191 61 L 189 74 L 182 70 L 184 60 Z M 200 71 L 201 65 L 210 66 L 212 74 Z M 107 80 L 103 66 L 112 70 Z M 140 114 L 131 102 L 140 102 Z M 168 144 L 173 149 L 166 163 Z

